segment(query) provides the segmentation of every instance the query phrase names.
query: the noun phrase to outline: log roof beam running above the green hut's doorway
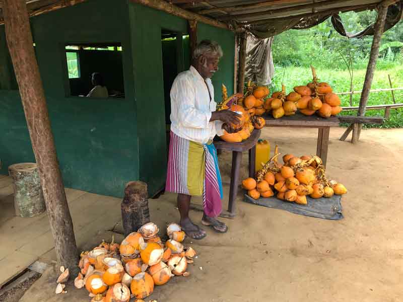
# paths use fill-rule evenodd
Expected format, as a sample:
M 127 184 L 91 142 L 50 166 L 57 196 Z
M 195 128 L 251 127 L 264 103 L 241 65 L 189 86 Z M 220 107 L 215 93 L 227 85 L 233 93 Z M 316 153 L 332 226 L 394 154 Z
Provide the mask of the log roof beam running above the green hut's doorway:
M 205 17 L 205 16 L 200 16 L 197 14 L 194 14 L 192 12 L 183 10 L 173 4 L 169 4 L 168 2 L 162 1 L 162 0 L 129 0 L 132 3 L 138 3 L 156 10 L 163 11 L 165 13 L 178 16 L 180 18 L 186 19 L 186 20 L 194 20 L 194 21 L 199 21 L 203 22 L 218 28 L 224 28 L 224 29 L 229 29 L 227 24 Z

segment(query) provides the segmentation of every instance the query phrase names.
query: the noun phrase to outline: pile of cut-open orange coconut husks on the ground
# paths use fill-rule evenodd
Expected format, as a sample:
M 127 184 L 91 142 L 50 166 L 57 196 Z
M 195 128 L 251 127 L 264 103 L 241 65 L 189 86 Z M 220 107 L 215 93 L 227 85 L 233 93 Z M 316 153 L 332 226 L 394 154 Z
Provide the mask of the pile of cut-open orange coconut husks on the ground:
M 130 233 L 119 245 L 104 241 L 93 250 L 83 252 L 79 262 L 81 272 L 74 285 L 89 291 L 91 302 L 128 302 L 153 293 L 154 285 L 163 285 L 173 276 L 188 276 L 187 264 L 197 258 L 191 248 L 181 242 L 185 233 L 177 223 L 169 223 L 169 240 L 162 242 L 157 236 L 158 226 L 153 222 L 143 225 L 138 232 Z M 63 269 L 58 278 L 56 293 L 63 293 L 69 277 Z

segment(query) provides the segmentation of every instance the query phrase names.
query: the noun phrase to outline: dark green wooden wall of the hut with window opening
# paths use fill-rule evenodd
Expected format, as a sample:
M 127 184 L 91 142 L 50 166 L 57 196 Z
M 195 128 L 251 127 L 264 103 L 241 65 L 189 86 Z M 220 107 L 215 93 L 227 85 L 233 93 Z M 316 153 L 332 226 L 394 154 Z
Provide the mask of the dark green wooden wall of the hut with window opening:
M 57 155 L 66 187 L 122 196 L 127 181 L 141 179 L 153 195 L 165 185 L 167 166 L 161 30 L 186 34 L 187 21 L 125 0 L 113 10 L 109 4 L 89 1 L 31 18 Z M 216 40 L 224 50 L 213 78 L 220 100 L 222 83 L 233 90 L 234 35 L 199 24 L 198 38 Z M 125 98 L 69 97 L 64 44 L 107 42 L 123 47 Z M 0 53 L 0 63 L 7 61 L 3 26 Z M 2 174 L 34 160 L 18 91 L 4 84 L 10 79 L 12 72 L 0 70 Z

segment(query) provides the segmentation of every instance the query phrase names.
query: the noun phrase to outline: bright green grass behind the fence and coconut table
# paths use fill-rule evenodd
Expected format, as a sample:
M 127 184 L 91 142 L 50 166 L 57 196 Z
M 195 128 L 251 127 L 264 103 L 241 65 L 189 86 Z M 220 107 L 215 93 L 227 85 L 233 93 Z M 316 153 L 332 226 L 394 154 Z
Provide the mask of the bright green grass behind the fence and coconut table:
M 344 62 L 341 61 L 341 68 Z M 387 65 L 387 66 L 386 66 Z M 385 68 L 386 67 L 386 68 Z M 377 70 L 374 74 L 374 79 L 372 81 L 371 89 L 379 88 L 389 88 L 389 81 L 387 75 L 390 74 L 392 80 L 392 85 L 394 88 L 403 87 L 403 66 L 400 64 L 393 64 L 390 66 L 383 62 L 383 60 L 378 60 Z M 353 85 L 355 91 L 362 90 L 364 78 L 365 78 L 365 68 L 354 70 Z M 350 91 L 350 74 L 348 70 L 338 70 L 338 69 L 322 69 L 316 68 L 317 77 L 322 82 L 327 82 L 333 88 L 333 92 L 347 92 Z M 284 79 L 283 79 L 284 77 Z M 307 67 L 295 67 L 295 66 L 276 66 L 275 77 L 273 79 L 273 85 L 271 91 L 281 90 L 281 83 L 286 85 L 287 93 L 293 91 L 294 86 L 306 85 L 312 80 L 311 69 Z M 360 103 L 360 94 L 353 95 L 353 106 L 358 106 Z M 396 103 L 403 103 L 403 90 L 394 91 L 394 96 Z M 350 96 L 343 95 L 340 96 L 342 100 L 342 106 L 350 106 Z M 370 93 L 367 105 L 383 105 L 383 104 L 393 104 L 392 96 L 390 91 L 387 92 L 377 92 Z M 356 115 L 357 111 L 343 111 L 343 115 Z M 369 110 L 366 112 L 366 116 L 383 116 L 384 110 Z M 381 127 L 381 128 L 400 128 L 403 127 L 403 108 L 392 109 L 390 111 L 390 117 L 385 120 L 382 125 L 364 125 L 367 128 L 371 127 Z

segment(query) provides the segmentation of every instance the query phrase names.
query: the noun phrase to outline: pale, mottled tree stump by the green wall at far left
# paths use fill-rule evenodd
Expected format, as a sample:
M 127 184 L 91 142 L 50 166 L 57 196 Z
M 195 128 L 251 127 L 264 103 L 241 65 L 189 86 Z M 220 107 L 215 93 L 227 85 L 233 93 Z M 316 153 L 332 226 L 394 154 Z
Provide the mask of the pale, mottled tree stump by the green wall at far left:
M 38 166 L 35 163 L 11 165 L 9 174 L 14 180 L 16 216 L 33 217 L 46 210 Z

